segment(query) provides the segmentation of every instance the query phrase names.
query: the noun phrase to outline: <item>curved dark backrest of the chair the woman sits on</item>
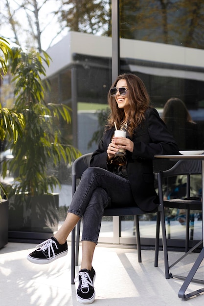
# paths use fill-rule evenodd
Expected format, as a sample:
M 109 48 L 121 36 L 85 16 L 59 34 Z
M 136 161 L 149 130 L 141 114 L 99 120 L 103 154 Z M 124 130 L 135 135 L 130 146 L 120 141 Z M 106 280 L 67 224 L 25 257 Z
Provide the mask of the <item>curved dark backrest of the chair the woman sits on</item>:
M 76 191 L 76 180 L 81 178 L 83 172 L 90 166 L 92 153 L 84 154 L 74 160 L 71 168 L 71 178 L 72 178 L 72 197 Z

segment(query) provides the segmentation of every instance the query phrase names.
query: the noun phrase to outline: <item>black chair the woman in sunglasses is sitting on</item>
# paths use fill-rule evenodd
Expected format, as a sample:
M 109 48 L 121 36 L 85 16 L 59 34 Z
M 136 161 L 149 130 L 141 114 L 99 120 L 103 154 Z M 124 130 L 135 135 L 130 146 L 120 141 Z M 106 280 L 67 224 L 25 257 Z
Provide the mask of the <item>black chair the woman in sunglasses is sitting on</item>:
M 77 179 L 81 178 L 83 172 L 90 166 L 92 153 L 84 154 L 77 158 L 72 165 L 72 196 L 77 187 Z M 139 234 L 139 215 L 147 214 L 138 207 L 124 207 L 124 208 L 106 208 L 104 216 L 134 216 L 136 223 L 136 245 L 138 262 L 141 262 L 141 244 Z M 157 212 L 159 219 L 160 213 Z M 77 229 L 77 230 L 76 230 Z M 71 284 L 74 284 L 75 265 L 78 265 L 79 257 L 79 235 L 80 235 L 80 220 L 71 233 Z

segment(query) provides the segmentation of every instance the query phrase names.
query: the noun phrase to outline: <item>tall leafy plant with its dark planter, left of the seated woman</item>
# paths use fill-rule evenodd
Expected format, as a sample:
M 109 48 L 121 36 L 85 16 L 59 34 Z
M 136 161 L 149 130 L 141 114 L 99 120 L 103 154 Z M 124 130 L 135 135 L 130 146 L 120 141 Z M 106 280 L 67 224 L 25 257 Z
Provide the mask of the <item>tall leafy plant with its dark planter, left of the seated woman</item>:
M 72 145 L 63 143 L 61 137 L 59 122 L 70 123 L 70 108 L 64 104 L 45 103 L 49 84 L 44 65 L 49 66 L 49 56 L 44 51 L 12 51 L 14 110 L 23 113 L 25 128 L 22 137 L 10 145 L 13 158 L 9 161 L 9 171 L 15 174 L 13 184 L 8 187 L 10 238 L 15 239 L 12 235 L 18 230 L 39 232 L 35 238 L 41 240 L 49 237 L 58 226 L 58 195 L 53 191 L 60 186 L 60 181 L 50 169 L 57 169 L 61 161 L 70 164 L 81 154 Z M 6 161 L 3 176 L 7 169 Z

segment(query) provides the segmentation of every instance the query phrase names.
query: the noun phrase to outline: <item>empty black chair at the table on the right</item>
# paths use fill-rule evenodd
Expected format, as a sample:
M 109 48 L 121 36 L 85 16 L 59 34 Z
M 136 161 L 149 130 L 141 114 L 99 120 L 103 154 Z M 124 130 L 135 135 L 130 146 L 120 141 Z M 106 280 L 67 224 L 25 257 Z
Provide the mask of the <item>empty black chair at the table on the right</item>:
M 165 266 L 165 277 L 169 279 L 170 277 L 177 277 L 184 279 L 181 276 L 172 275 L 169 272 L 175 264 L 181 261 L 190 252 L 194 251 L 201 243 L 197 243 L 189 250 L 189 223 L 190 223 L 190 210 L 202 211 L 202 202 L 199 197 L 191 197 L 191 175 L 201 175 L 202 173 L 202 163 L 200 160 L 182 160 L 178 161 L 171 169 L 161 171 L 158 175 L 158 188 L 159 188 L 159 210 L 161 217 L 161 229 L 162 229 L 162 242 L 163 242 L 163 252 L 164 252 L 164 266 Z M 186 189 L 185 196 L 182 198 L 164 199 L 163 189 L 166 187 L 166 179 L 169 177 L 175 177 L 177 175 L 186 176 Z M 166 237 L 166 226 L 165 226 L 165 208 L 177 208 L 186 211 L 186 236 L 185 236 L 185 254 L 181 256 L 176 262 L 169 265 L 168 260 L 168 247 L 167 247 L 167 237 Z M 156 245 L 155 245 L 155 266 L 158 266 L 159 257 L 159 223 L 156 234 Z M 192 237 L 191 237 L 192 238 Z

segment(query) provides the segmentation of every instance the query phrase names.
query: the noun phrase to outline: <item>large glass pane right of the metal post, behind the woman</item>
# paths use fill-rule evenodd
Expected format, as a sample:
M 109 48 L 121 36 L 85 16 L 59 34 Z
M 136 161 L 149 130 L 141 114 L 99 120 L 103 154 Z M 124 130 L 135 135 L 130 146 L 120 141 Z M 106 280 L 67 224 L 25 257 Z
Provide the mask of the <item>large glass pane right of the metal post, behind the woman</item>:
M 204 2 L 120 0 L 119 16 L 121 72 L 132 72 L 144 81 L 152 105 L 173 133 L 180 150 L 203 150 Z M 181 188 L 181 180 L 177 179 L 171 187 Z M 198 194 L 200 188 L 201 181 L 197 180 L 192 192 Z M 171 238 L 183 239 L 184 212 L 166 214 Z M 192 212 L 191 217 L 193 239 L 202 239 L 202 216 Z M 121 237 L 134 236 L 134 218 L 120 220 Z M 155 215 L 150 219 L 144 215 L 140 220 L 141 237 L 151 238 L 155 233 L 152 230 Z

